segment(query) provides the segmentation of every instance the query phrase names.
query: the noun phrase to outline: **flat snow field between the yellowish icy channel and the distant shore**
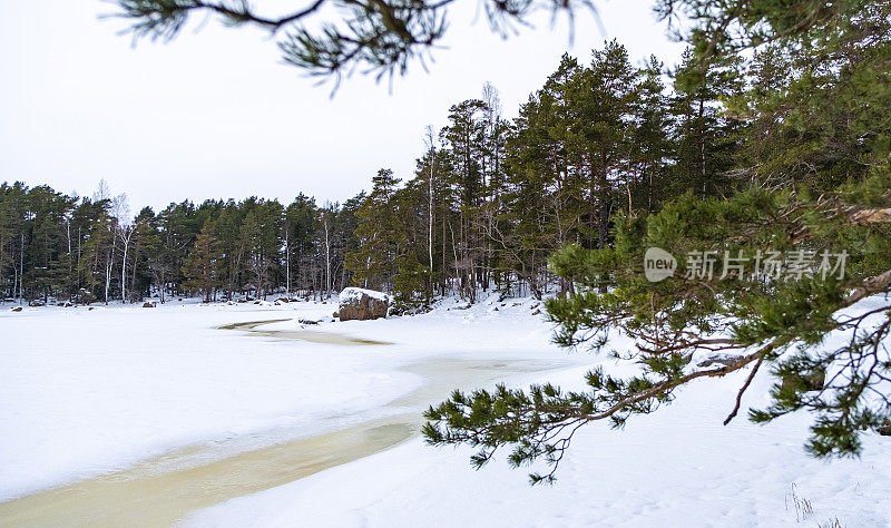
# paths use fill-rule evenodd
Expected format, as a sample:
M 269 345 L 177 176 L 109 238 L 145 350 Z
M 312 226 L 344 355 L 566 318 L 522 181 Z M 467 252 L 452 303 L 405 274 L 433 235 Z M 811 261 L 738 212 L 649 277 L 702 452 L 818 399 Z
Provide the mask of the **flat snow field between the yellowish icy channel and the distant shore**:
M 188 446 L 252 449 L 374 419 L 423 383 L 402 369 L 423 358 L 554 358 L 544 324 L 529 331 L 503 317 L 468 327 L 466 312 L 447 307 L 427 320 L 311 327 L 394 343 L 381 346 L 218 329 L 285 319 L 262 329 L 296 331 L 298 320 L 330 316 L 336 305 L 0 311 L 0 501 Z

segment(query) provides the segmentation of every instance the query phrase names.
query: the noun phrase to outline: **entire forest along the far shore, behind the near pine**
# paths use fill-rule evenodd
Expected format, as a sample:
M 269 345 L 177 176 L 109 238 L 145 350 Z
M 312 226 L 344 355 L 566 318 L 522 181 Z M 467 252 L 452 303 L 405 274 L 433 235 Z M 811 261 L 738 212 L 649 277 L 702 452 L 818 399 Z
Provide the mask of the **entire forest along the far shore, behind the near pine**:
M 131 211 L 105 182 L 82 197 L 2 184 L 0 292 L 164 302 L 330 296 L 355 284 L 392 292 L 403 307 L 447 293 L 472 302 L 490 289 L 540 297 L 571 287 L 549 273 L 548 257 L 568 243 L 606 247 L 616 215 L 646 216 L 685 193 L 719 197 L 752 183 L 819 192 L 866 173 L 854 156 L 869 146 L 853 137 L 834 138 L 842 148 L 810 166 L 772 156 L 770 143 L 819 137 L 849 111 L 765 136 L 784 110 L 775 98 L 794 97 L 789 79 L 806 66 L 766 49 L 747 65 L 715 63 L 697 82 L 697 65 L 687 53 L 667 75 L 655 58 L 635 66 L 608 42 L 590 58 L 564 56 L 513 119 L 486 85 L 480 98 L 449 108 L 439 131 L 427 130 L 413 175 L 382 168 L 343 204 L 295 189 L 287 204 L 248 197 Z M 762 177 L 765 167 L 787 182 Z

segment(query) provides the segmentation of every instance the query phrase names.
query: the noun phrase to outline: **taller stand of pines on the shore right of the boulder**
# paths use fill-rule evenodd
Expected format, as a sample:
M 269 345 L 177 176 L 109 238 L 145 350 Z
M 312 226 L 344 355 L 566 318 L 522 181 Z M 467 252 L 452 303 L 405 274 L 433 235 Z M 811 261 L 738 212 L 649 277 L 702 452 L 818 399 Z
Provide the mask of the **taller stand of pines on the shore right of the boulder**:
M 692 52 L 667 75 L 655 57 L 635 66 L 606 42 L 587 63 L 565 55 L 515 119 L 486 85 L 428 130 L 408 182 L 374 177 L 347 268 L 409 304 L 450 291 L 471 302 L 489 289 L 571 291 L 548 267 L 558 248 L 608 246 L 620 212 L 646 216 L 684 193 L 751 184 L 733 170 L 746 127 L 722 105 L 742 85 L 737 66 L 715 65 L 697 82 Z

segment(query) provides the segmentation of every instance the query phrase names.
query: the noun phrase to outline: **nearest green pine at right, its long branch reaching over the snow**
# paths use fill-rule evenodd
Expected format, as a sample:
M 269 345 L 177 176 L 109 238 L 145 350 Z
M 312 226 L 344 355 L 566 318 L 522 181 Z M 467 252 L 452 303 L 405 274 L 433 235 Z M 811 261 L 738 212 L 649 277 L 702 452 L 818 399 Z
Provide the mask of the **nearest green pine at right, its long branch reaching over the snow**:
M 884 139 L 891 124 L 873 111 L 889 94 L 891 3 L 715 7 L 689 0 L 663 7 L 668 12 L 678 6 L 691 8 L 698 25 L 691 38 L 694 52 L 675 82 L 682 109 L 675 174 L 683 182 L 678 190 L 691 192 L 648 216 L 613 215 L 609 245 L 570 244 L 550 261 L 552 271 L 575 285 L 546 303 L 560 325 L 556 341 L 605 351 L 610 335 L 625 334 L 633 344 L 616 358 L 639 373 L 596 369 L 581 391 L 546 383 L 528 392 L 505 385 L 456 392 L 425 413 L 428 442 L 476 447 L 477 467 L 510 447 L 515 466 L 537 459 L 549 465 L 532 482 L 551 481 L 579 427 L 596 421 L 621 427 L 670 403 L 694 380 L 746 370 L 725 424 L 740 412 L 752 379 L 768 370 L 775 379 L 772 403 L 750 410 L 748 418 L 765 423 L 809 412 L 806 449 L 815 457 L 855 456 L 864 431 L 891 422 L 884 346 L 891 334 L 891 163 Z M 744 52 L 760 45 L 775 47 L 765 51 L 774 55 L 756 56 L 750 65 L 754 78 L 741 79 Z M 786 53 L 801 68 L 792 81 L 777 74 L 789 71 Z M 742 102 L 731 100 L 743 81 L 752 82 L 751 90 Z M 809 88 L 820 96 L 802 97 Z M 737 157 L 741 144 L 748 151 Z M 761 148 L 767 144 L 779 151 Z M 815 145 L 834 149 L 814 156 Z M 765 157 L 780 163 L 735 166 Z M 802 179 L 775 167 L 797 167 L 809 183 L 819 183 L 820 193 L 795 185 Z M 836 179 L 841 175 L 844 183 Z M 679 274 L 650 282 L 644 273 L 649 247 L 681 256 L 682 263 L 683 256 L 712 255 L 718 273 L 702 273 L 697 266 L 705 257 L 698 264 L 691 257 Z M 753 276 L 734 267 L 764 264 L 763 248 L 792 255 L 794 265 L 766 278 L 764 271 Z M 836 267 L 842 255 L 844 271 Z M 869 304 L 849 310 L 868 297 Z M 824 344 L 832 332 L 848 332 L 850 340 Z

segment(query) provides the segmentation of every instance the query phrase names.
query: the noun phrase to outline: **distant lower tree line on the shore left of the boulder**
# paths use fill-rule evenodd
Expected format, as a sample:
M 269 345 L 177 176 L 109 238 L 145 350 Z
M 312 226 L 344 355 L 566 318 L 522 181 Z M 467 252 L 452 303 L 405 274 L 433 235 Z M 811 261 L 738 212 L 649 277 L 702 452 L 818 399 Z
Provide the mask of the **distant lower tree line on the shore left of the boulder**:
M 49 186 L 0 185 L 0 292 L 6 299 L 134 302 L 157 295 L 323 296 L 350 283 L 362 195 L 319 205 L 185 201 L 129 213 L 100 183 L 90 197 Z

